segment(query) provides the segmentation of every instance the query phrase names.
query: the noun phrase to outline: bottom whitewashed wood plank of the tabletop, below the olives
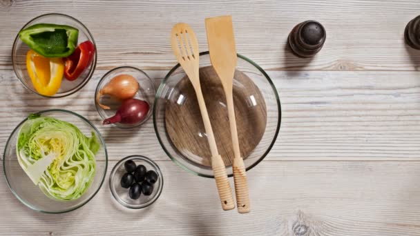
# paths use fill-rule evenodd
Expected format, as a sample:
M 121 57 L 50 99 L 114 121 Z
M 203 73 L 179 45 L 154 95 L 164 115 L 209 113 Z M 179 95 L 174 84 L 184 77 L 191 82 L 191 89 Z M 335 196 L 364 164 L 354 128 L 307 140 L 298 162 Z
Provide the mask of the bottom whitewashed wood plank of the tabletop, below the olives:
M 419 235 L 419 161 L 262 161 L 248 173 L 247 215 L 220 209 L 213 179 L 158 165 L 153 206 L 122 208 L 107 175 L 90 203 L 58 217 L 23 206 L 2 177 L 0 235 Z

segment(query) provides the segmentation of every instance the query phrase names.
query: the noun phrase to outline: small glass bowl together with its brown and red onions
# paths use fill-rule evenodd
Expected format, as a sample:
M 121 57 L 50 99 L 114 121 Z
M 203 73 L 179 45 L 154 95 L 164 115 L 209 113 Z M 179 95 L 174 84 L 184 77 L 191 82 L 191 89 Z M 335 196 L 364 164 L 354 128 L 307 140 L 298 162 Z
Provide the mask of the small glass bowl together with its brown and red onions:
M 95 106 L 102 124 L 118 128 L 140 126 L 152 115 L 155 84 L 135 67 L 121 66 L 108 71 L 95 90 Z

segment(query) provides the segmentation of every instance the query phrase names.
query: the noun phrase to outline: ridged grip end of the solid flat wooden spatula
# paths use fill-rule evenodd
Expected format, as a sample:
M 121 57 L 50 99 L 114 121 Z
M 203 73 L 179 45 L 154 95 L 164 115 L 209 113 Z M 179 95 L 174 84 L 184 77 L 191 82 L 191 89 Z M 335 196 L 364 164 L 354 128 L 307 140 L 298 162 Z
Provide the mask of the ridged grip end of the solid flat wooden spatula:
M 242 157 L 233 159 L 233 179 L 235 179 L 238 213 L 249 213 L 251 206 L 249 204 L 247 170 L 245 170 L 245 164 Z

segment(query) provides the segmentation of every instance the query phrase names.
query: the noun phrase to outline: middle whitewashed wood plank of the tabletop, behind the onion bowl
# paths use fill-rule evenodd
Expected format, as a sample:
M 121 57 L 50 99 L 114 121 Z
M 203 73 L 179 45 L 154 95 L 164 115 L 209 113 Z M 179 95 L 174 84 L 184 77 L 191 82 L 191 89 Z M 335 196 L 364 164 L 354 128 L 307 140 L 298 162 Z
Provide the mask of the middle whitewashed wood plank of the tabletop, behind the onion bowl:
M 94 90 L 105 70 L 63 99 L 28 92 L 12 70 L 0 73 L 0 143 L 30 112 L 66 108 L 93 122 L 108 144 L 110 159 L 144 153 L 166 160 L 150 119 L 141 128 L 104 127 Z M 146 71 L 158 85 L 166 71 Z M 270 160 L 417 160 L 420 154 L 420 72 L 269 71 L 283 110 Z M 11 109 L 10 106 L 13 106 Z M 3 145 L 0 153 L 3 154 Z

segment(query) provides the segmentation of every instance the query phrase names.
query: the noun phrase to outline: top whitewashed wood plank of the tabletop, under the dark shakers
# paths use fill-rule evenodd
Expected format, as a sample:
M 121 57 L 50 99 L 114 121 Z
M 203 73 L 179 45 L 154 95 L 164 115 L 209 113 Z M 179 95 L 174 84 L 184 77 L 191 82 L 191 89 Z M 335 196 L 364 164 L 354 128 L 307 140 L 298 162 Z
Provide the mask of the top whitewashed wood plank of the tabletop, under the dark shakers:
M 86 24 L 98 48 L 98 67 L 129 64 L 169 69 L 175 63 L 169 32 L 185 21 L 207 50 L 204 18 L 232 14 L 237 50 L 268 70 L 419 70 L 420 53 L 405 46 L 405 25 L 420 12 L 417 0 L 325 1 L 15 1 L 0 4 L 0 69 L 12 68 L 19 29 L 44 12 L 70 14 Z M 301 21 L 323 23 L 327 39 L 313 59 L 286 46 Z M 124 37 L 125 35 L 125 37 Z

